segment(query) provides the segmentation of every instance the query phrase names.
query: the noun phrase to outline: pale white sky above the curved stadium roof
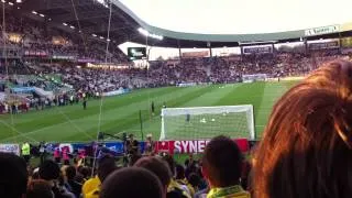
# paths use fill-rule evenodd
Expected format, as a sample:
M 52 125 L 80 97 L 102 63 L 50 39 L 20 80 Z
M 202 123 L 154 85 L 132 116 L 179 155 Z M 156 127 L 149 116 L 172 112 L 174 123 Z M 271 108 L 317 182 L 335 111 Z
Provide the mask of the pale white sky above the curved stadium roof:
M 352 21 L 352 0 L 120 0 L 140 19 L 188 33 L 271 33 Z

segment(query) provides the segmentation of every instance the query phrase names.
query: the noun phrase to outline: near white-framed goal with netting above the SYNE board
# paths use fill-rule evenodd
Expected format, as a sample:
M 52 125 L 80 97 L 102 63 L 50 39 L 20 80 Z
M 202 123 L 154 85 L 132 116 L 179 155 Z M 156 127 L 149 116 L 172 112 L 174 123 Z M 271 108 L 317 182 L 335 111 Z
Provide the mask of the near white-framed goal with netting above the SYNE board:
M 161 140 L 255 139 L 253 106 L 162 109 Z

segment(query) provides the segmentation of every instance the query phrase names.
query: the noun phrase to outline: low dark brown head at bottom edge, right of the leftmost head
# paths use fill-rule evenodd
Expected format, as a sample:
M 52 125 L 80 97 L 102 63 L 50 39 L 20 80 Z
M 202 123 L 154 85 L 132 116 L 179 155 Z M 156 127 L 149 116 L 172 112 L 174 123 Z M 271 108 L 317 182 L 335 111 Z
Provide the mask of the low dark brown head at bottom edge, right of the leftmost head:
M 43 179 L 33 179 L 28 185 L 26 198 L 54 198 L 52 186 Z

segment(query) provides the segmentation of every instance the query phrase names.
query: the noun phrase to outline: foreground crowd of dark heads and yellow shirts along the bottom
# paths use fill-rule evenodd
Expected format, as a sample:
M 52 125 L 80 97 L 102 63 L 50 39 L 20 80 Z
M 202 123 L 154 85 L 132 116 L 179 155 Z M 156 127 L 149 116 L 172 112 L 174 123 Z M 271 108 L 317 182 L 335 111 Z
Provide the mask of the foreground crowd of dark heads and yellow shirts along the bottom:
M 202 158 L 189 155 L 184 164 L 165 153 L 150 153 L 139 155 L 128 166 L 120 166 L 118 158 L 106 153 L 97 158 L 95 168 L 80 163 L 82 161 L 61 164 L 52 160 L 33 168 L 19 156 L 0 153 L 0 195 L 13 198 L 201 198 L 207 194 L 218 197 L 222 194 L 219 189 L 231 187 L 229 195 L 250 197 L 245 191 L 248 185 L 240 182 L 242 158 L 238 145 L 226 136 L 212 139 Z

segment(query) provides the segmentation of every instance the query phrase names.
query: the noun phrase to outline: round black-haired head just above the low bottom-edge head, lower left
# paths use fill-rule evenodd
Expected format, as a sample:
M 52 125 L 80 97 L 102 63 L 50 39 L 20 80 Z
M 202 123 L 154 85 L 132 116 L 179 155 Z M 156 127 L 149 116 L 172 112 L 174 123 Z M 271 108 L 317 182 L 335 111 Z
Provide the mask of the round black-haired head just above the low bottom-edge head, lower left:
M 61 169 L 54 161 L 44 161 L 40 166 L 40 178 L 44 180 L 55 180 L 59 177 Z

